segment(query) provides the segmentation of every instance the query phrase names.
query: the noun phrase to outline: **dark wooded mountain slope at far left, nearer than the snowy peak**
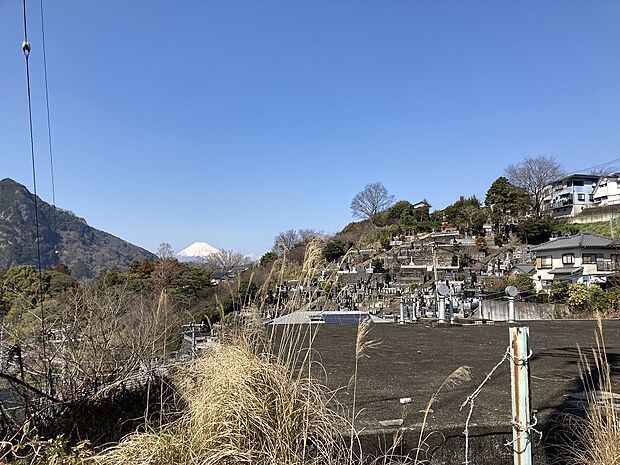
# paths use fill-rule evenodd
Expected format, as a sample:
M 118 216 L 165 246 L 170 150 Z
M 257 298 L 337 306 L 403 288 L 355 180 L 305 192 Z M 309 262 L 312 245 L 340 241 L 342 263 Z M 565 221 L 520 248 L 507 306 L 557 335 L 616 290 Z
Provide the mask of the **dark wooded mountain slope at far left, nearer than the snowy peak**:
M 67 265 L 78 279 L 101 271 L 126 269 L 133 260 L 152 260 L 154 254 L 89 226 L 73 213 L 38 199 L 41 261 L 44 268 Z M 34 195 L 6 178 L 0 181 L 0 270 L 36 265 L 37 242 Z

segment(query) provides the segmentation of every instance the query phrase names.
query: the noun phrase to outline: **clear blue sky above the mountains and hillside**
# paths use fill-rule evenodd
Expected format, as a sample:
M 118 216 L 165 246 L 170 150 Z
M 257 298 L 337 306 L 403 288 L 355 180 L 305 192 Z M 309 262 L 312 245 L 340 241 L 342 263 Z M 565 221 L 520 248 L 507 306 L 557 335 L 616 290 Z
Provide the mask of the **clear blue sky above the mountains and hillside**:
M 620 157 L 617 1 L 44 5 L 57 204 L 150 250 L 258 254 L 282 230 L 341 229 L 371 182 L 443 208 L 526 156 Z M 0 0 L 0 178 L 32 188 L 21 15 Z

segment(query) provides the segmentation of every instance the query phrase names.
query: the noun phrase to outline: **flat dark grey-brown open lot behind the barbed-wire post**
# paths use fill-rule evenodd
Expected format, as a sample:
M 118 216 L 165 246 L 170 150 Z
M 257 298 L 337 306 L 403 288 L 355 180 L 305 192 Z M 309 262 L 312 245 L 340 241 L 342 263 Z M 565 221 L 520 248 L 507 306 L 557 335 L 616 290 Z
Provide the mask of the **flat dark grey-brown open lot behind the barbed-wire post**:
M 528 322 L 530 329 L 532 408 L 541 424 L 565 406 L 567 396 L 583 390 L 577 347 L 590 352 L 595 346 L 595 321 L 553 320 Z M 620 321 L 603 322 L 607 355 L 620 378 Z M 345 407 L 352 404 L 349 381 L 355 363 L 355 326 L 321 325 L 313 344 L 314 360 L 324 370 L 324 382 L 338 390 Z M 357 381 L 356 426 L 372 432 L 384 430 L 380 422 L 402 418 L 413 428 L 422 422 L 422 411 L 432 394 L 455 369 L 471 367 L 472 380 L 445 388 L 429 415 L 429 430 L 458 430 L 465 425 L 468 407 L 462 402 L 484 380 L 508 347 L 508 326 L 430 325 L 372 326 L 369 339 L 380 345 L 360 360 Z M 510 432 L 511 399 L 508 361 L 495 372 L 475 402 L 472 427 Z M 413 402 L 400 404 L 403 397 Z

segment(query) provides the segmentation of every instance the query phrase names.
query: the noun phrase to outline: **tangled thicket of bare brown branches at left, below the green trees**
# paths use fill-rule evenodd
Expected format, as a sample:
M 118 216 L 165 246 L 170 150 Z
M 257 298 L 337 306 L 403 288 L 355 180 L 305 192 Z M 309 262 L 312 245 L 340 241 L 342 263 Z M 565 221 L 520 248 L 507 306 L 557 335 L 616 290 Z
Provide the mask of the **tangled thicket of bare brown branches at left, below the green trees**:
M 181 306 L 168 302 L 165 292 L 136 294 L 127 284 L 84 284 L 57 305 L 47 309 L 53 316 L 47 323 L 45 350 L 35 324 L 38 310 L 4 322 L 2 352 L 7 346 L 19 348 L 28 363 L 22 365 L 21 375 L 15 363 L 5 364 L 0 379 L 17 376 L 39 392 L 49 389 L 48 398 L 54 393 L 67 401 L 88 398 L 130 377 L 144 377 L 144 368 L 155 369 L 178 349 L 181 325 L 190 318 Z

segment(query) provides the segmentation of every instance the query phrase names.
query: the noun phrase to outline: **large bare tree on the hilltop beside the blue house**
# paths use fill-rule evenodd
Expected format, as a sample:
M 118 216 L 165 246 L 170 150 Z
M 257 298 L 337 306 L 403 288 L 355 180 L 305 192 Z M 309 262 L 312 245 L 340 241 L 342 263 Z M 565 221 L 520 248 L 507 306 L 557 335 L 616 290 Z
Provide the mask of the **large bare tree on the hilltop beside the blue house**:
M 564 169 L 554 157 L 540 155 L 508 165 L 504 173 L 511 184 L 532 196 L 534 214 L 540 216 L 545 187 L 564 176 Z

